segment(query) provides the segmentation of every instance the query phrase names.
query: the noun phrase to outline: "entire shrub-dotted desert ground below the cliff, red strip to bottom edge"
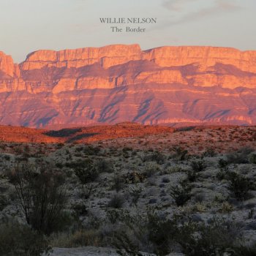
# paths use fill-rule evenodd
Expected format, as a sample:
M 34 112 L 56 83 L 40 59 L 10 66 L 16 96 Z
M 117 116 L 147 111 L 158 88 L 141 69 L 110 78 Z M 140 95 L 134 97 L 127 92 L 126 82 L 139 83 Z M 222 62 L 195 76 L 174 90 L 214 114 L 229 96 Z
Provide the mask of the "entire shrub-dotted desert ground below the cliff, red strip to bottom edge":
M 0 255 L 256 255 L 256 127 L 0 128 Z

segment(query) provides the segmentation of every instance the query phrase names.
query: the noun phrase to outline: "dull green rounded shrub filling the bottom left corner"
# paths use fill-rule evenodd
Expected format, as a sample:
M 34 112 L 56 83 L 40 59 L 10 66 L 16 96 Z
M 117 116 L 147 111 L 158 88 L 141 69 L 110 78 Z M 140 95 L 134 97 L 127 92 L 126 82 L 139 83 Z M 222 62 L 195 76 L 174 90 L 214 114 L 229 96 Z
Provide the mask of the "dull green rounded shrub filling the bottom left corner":
M 40 256 L 49 250 L 45 236 L 31 230 L 28 225 L 22 225 L 13 219 L 0 224 L 0 255 Z

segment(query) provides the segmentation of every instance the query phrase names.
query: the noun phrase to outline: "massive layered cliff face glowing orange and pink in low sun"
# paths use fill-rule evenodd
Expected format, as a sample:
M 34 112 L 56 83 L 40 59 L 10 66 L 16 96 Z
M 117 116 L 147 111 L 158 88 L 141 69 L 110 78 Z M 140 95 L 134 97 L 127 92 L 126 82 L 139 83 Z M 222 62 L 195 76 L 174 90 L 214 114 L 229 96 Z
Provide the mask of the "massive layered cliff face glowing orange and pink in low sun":
M 109 45 L 0 52 L 0 124 L 256 124 L 256 51 Z

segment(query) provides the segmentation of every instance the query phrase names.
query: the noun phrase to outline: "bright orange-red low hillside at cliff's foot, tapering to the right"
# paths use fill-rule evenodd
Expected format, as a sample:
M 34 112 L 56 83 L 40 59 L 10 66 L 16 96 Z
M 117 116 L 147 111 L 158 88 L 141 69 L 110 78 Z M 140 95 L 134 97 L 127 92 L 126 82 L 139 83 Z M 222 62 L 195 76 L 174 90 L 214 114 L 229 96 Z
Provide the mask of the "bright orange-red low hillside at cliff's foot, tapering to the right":
M 93 143 L 99 140 L 168 135 L 173 132 L 174 129 L 171 127 L 149 126 L 129 122 L 60 130 L 0 126 L 0 143 Z

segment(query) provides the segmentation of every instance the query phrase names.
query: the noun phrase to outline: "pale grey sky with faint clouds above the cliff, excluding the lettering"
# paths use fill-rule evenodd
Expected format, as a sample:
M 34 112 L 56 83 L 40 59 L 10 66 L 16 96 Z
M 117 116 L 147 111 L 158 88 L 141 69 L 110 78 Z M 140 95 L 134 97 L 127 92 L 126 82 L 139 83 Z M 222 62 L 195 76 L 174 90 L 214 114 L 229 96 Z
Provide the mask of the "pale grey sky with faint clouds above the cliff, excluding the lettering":
M 0 0 L 0 50 L 15 62 L 39 49 L 111 44 L 256 50 L 255 13 L 255 0 Z M 99 18 L 157 18 L 157 24 L 129 24 L 144 33 L 113 33 Z

